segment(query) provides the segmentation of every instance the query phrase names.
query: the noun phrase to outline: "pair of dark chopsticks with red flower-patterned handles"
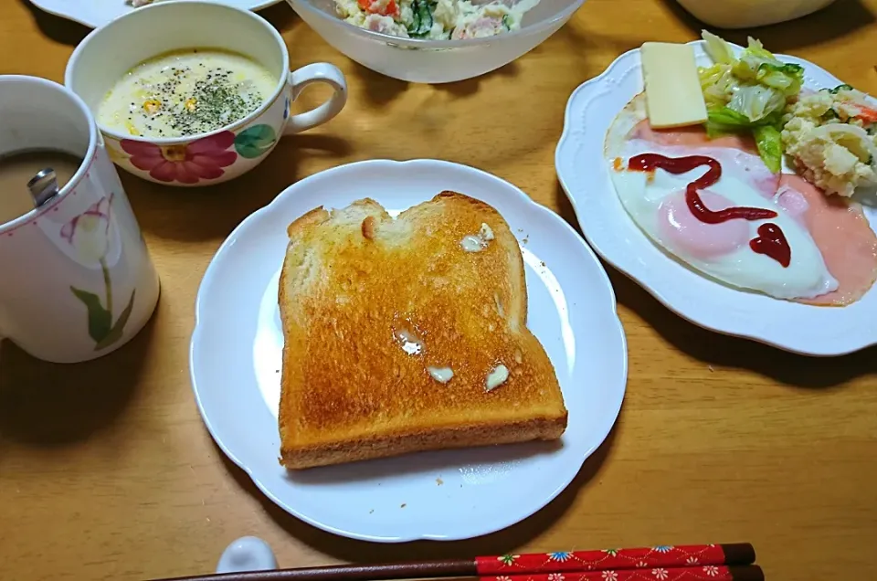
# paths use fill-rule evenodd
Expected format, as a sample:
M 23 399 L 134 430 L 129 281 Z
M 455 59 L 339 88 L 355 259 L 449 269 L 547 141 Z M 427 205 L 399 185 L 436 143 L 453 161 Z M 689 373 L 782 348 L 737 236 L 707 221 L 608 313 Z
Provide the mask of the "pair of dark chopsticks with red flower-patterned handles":
M 329 565 L 174 577 L 163 581 L 383 581 L 440 577 L 479 577 L 481 581 L 761 581 L 764 574 L 753 563 L 755 549 L 751 544 L 691 544 L 380 565 Z

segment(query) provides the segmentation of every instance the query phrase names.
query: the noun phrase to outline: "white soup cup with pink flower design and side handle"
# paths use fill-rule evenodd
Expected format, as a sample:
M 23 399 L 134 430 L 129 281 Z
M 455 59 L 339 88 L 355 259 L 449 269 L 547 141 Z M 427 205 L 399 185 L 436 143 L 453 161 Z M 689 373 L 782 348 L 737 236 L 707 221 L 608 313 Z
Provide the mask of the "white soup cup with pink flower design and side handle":
M 329 121 L 347 101 L 347 83 L 340 69 L 314 63 L 289 72 L 289 51 L 267 20 L 199 0 L 144 6 L 93 30 L 73 51 L 65 84 L 97 115 L 101 100 L 130 69 L 148 58 L 185 48 L 220 48 L 246 55 L 279 80 L 259 109 L 213 132 L 151 138 L 100 124 L 112 160 L 153 182 L 211 185 L 237 177 L 258 165 L 281 136 Z M 312 111 L 290 115 L 291 101 L 316 82 L 330 85 L 332 97 Z

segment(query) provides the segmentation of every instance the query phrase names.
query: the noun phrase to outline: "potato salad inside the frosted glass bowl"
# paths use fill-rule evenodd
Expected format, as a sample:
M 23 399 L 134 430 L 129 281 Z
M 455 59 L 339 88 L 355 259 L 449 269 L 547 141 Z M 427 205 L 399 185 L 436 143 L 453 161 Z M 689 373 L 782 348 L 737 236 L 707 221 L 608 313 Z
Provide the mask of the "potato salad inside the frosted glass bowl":
M 521 27 L 539 0 L 335 0 L 338 16 L 394 37 L 492 37 Z

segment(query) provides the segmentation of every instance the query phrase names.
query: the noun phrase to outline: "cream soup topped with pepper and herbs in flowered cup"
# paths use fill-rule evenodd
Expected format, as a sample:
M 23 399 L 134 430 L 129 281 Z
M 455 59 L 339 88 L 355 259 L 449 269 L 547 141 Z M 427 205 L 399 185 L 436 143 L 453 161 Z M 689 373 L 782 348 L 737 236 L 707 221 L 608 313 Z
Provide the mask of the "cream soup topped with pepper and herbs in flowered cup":
M 164 53 L 119 79 L 98 108 L 107 129 L 143 137 L 212 132 L 259 109 L 278 79 L 251 58 L 218 49 Z

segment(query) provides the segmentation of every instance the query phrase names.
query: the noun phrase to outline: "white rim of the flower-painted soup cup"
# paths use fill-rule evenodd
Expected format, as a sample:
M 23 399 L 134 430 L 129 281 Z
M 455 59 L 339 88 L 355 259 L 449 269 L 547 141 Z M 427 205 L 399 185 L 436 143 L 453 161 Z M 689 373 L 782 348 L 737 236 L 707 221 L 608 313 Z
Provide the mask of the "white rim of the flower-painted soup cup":
M 584 0 L 582 0 L 584 2 Z M 174 0 L 174 2 L 158 2 L 151 5 L 145 5 L 137 8 L 137 10 L 133 10 L 127 14 L 123 14 L 122 16 L 118 16 L 117 18 L 113 18 L 110 22 L 103 26 L 99 26 L 93 29 L 85 38 L 79 41 L 79 45 L 73 49 L 73 53 L 70 55 L 70 58 L 67 61 L 67 67 L 64 69 L 64 87 L 69 90 L 71 93 L 76 94 L 79 97 L 79 93 L 73 90 L 72 87 L 72 69 L 73 64 L 79 59 L 80 54 L 85 49 L 86 44 L 94 38 L 97 37 L 101 32 L 103 32 L 104 28 L 109 28 L 117 24 L 118 22 L 126 19 L 132 19 L 137 17 L 140 14 L 145 13 L 147 10 L 167 10 L 174 9 L 174 5 L 213 5 L 221 8 L 226 8 L 230 12 L 237 12 L 239 16 L 246 16 L 248 18 L 252 18 L 254 21 L 258 22 L 260 25 L 264 26 L 266 30 L 268 30 L 269 34 L 274 37 L 274 40 L 277 41 L 278 46 L 280 47 L 280 53 L 283 56 L 283 62 L 280 65 L 280 79 L 278 79 L 277 86 L 274 87 L 274 91 L 270 94 L 268 98 L 262 101 L 259 107 L 253 111 L 250 111 L 247 116 L 241 117 L 237 121 L 232 121 L 227 125 L 223 125 L 222 127 L 217 127 L 213 131 L 209 132 L 201 132 L 201 133 L 193 133 L 191 135 L 181 135 L 179 137 L 148 137 L 143 135 L 125 135 L 121 132 L 113 131 L 106 126 L 104 126 L 100 121 L 98 121 L 98 113 L 97 111 L 91 111 L 89 107 L 89 111 L 94 117 L 94 122 L 100 129 L 100 132 L 103 133 L 104 137 L 110 137 L 111 139 L 116 140 L 117 142 L 124 141 L 134 141 L 134 142 L 143 142 L 143 143 L 153 143 L 155 145 L 159 145 L 162 147 L 168 147 L 173 145 L 183 145 L 186 143 L 192 143 L 199 139 L 203 139 L 205 137 L 210 137 L 212 135 L 217 135 L 223 132 L 234 132 L 240 127 L 248 125 L 252 121 L 255 121 L 259 115 L 269 110 L 269 107 L 273 105 L 277 98 L 280 96 L 280 93 L 283 91 L 284 87 L 286 87 L 290 82 L 290 49 L 286 46 L 286 41 L 280 36 L 280 32 L 277 31 L 268 20 L 259 16 L 252 10 L 242 10 L 238 8 L 238 6 L 227 5 L 220 0 Z M 221 47 L 220 47 L 221 48 Z M 162 52 L 155 53 L 155 56 L 162 54 Z M 80 65 L 81 66 L 81 65 Z M 135 65 L 136 66 L 136 65 Z

